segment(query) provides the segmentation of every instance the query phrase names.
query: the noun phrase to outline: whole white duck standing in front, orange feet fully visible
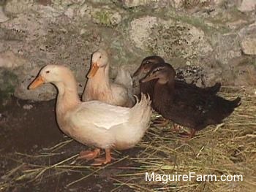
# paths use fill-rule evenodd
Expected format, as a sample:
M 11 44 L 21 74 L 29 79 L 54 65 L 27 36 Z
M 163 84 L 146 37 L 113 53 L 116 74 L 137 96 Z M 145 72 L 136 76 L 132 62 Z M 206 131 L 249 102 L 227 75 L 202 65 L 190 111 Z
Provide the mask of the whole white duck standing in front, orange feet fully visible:
M 83 145 L 98 147 L 83 151 L 79 158 L 91 160 L 94 165 L 111 161 L 110 149 L 125 150 L 134 147 L 145 134 L 151 118 L 151 101 L 145 95 L 134 107 L 118 107 L 101 101 L 80 101 L 75 77 L 65 66 L 43 67 L 29 89 L 43 83 L 56 85 L 59 93 L 56 118 L 64 134 Z M 97 158 L 99 148 L 105 149 L 105 158 Z

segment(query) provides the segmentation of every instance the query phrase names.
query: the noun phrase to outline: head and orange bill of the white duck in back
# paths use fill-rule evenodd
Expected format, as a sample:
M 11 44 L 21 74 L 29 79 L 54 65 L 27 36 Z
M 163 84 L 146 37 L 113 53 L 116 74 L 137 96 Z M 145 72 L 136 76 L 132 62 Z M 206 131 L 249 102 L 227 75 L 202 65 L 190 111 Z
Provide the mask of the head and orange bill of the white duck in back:
M 108 53 L 106 50 L 99 49 L 91 55 L 91 69 L 87 74 L 88 78 L 94 77 L 99 68 L 108 66 Z

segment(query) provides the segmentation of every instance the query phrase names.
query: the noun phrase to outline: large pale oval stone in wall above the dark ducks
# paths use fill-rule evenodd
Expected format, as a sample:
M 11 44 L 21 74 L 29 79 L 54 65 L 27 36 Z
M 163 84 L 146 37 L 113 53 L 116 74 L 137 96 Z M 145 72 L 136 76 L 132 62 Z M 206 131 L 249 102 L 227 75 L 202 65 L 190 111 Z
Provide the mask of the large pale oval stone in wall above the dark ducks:
M 131 22 L 129 35 L 136 47 L 165 58 L 200 60 L 213 51 L 200 28 L 171 19 L 136 18 Z

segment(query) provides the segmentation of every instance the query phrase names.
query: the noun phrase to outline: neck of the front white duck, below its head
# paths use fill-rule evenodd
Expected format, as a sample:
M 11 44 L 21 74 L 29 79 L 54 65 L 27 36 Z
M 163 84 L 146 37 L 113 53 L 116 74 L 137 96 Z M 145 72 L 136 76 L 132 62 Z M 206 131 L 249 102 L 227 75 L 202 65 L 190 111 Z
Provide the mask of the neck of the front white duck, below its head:
M 67 82 L 56 82 L 55 85 L 59 91 L 56 103 L 57 116 L 64 115 L 65 112 L 80 104 L 76 82 L 68 80 Z

